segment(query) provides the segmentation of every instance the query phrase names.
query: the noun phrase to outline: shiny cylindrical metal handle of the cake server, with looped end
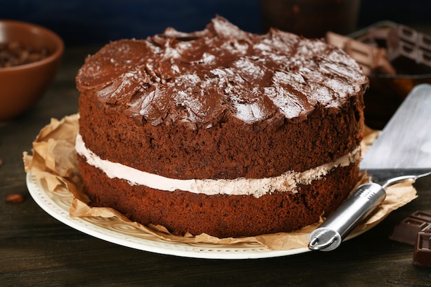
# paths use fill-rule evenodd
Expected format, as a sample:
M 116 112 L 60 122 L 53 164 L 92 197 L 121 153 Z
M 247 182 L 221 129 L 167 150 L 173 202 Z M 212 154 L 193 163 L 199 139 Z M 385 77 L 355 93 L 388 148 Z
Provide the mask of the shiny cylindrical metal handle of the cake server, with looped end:
M 385 198 L 386 192 L 380 184 L 361 184 L 310 234 L 308 248 L 319 251 L 334 250 Z

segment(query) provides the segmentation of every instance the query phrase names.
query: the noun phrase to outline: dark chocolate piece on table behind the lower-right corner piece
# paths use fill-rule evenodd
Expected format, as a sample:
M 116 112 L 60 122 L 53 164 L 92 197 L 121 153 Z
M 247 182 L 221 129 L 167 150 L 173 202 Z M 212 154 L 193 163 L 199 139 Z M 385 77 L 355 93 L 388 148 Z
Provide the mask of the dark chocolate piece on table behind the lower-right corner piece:
M 431 231 L 431 213 L 416 211 L 397 224 L 389 238 L 397 242 L 414 245 L 417 240 L 417 233 L 423 231 Z

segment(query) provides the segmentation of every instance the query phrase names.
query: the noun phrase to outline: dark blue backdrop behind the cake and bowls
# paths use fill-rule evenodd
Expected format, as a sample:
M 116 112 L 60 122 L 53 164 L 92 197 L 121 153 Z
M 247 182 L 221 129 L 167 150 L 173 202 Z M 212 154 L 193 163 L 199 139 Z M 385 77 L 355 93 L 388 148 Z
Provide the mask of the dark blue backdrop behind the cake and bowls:
M 215 14 L 243 30 L 262 32 L 260 0 L 0 0 L 0 19 L 43 25 L 60 34 L 66 45 L 145 38 L 167 26 L 202 30 Z M 430 22 L 431 1 L 361 0 L 358 28 L 381 20 Z

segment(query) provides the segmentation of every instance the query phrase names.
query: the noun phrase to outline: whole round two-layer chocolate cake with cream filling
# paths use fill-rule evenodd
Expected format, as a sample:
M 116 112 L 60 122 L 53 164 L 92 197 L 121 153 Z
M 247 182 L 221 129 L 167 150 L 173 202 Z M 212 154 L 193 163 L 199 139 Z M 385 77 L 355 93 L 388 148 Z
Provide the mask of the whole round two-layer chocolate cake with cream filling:
M 198 32 L 109 43 L 76 83 L 85 192 L 141 224 L 287 232 L 357 183 L 368 79 L 321 39 L 216 17 Z

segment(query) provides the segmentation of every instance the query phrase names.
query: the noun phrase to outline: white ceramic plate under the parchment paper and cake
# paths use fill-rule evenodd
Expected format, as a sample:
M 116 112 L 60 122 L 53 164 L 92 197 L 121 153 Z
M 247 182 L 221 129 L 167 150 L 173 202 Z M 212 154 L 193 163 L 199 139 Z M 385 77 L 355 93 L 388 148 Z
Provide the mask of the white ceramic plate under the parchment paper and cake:
M 279 257 L 306 253 L 308 248 L 296 248 L 286 251 L 271 251 L 260 244 L 187 244 L 169 242 L 158 237 L 143 233 L 138 228 L 124 224 L 116 218 L 103 217 L 70 217 L 69 209 L 72 204 L 73 195 L 67 189 L 52 193 L 46 189 L 44 184 L 27 173 L 27 186 L 34 201 L 41 208 L 56 218 L 75 228 L 78 231 L 92 235 L 101 240 L 136 248 L 142 251 L 176 255 L 181 257 L 207 258 L 207 259 L 251 259 Z M 349 238 L 360 233 L 350 234 Z

